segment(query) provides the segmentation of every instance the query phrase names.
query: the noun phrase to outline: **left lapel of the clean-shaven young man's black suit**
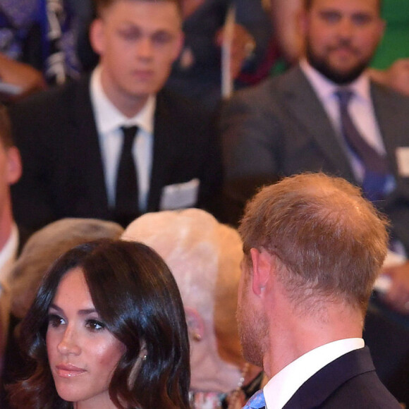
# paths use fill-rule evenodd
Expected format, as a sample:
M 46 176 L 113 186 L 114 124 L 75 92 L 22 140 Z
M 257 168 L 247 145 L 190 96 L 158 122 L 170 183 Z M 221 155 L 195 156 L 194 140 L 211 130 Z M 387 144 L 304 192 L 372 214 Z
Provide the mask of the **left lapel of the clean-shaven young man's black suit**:
M 78 138 L 74 144 L 81 147 L 76 152 L 76 161 L 84 169 L 83 180 L 89 192 L 88 204 L 94 209 L 108 209 L 106 185 L 104 181 L 104 166 L 102 164 L 101 149 L 94 112 L 90 99 L 90 77 L 80 80 L 73 96 L 74 129 L 73 138 Z M 87 163 L 87 166 L 83 164 Z

